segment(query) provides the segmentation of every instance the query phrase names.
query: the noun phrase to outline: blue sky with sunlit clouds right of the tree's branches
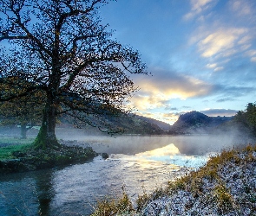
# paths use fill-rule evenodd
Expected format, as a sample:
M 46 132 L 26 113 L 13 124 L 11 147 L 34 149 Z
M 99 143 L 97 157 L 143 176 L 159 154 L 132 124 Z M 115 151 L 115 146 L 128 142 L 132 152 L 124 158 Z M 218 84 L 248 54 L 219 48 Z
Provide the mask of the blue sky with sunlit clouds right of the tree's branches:
M 255 102 L 255 0 L 118 0 L 100 16 L 151 73 L 131 76 L 136 114 L 174 124 L 188 111 L 233 116 Z

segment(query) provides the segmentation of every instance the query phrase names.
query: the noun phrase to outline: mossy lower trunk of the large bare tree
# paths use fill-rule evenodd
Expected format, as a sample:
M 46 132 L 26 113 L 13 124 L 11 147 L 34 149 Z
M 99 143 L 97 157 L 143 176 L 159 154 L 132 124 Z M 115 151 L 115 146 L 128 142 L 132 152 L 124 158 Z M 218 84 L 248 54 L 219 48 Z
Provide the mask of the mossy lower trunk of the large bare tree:
M 51 99 L 48 99 L 47 104 L 43 110 L 43 122 L 39 133 L 34 142 L 36 148 L 45 149 L 52 148 L 56 149 L 60 146 L 56 139 L 56 105 Z

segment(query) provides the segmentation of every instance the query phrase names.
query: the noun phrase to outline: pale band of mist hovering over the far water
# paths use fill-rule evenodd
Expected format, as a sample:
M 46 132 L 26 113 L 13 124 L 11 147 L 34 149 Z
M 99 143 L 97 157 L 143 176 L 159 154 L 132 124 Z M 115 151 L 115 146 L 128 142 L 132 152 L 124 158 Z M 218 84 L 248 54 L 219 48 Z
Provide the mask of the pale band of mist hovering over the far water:
M 81 146 L 91 146 L 96 152 L 108 154 L 135 155 L 173 143 L 187 156 L 201 156 L 221 149 L 240 149 L 249 143 L 255 143 L 255 137 L 246 137 L 236 131 L 214 135 L 189 136 L 141 136 L 115 135 L 103 133 L 93 135 L 86 130 L 57 129 L 56 136 L 63 142 Z M 67 142 L 73 141 L 73 142 Z

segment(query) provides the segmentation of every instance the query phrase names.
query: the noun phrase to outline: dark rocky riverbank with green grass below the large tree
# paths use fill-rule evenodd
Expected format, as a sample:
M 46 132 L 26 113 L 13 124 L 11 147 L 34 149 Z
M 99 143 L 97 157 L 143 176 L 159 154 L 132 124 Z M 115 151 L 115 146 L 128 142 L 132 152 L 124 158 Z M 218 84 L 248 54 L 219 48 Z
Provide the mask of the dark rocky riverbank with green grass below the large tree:
M 62 167 L 82 163 L 99 156 L 91 147 L 67 146 L 56 149 L 35 149 L 31 144 L 16 144 L 2 147 L 7 152 L 0 160 L 0 174 L 35 171 L 43 168 Z M 107 157 L 106 155 L 102 155 Z

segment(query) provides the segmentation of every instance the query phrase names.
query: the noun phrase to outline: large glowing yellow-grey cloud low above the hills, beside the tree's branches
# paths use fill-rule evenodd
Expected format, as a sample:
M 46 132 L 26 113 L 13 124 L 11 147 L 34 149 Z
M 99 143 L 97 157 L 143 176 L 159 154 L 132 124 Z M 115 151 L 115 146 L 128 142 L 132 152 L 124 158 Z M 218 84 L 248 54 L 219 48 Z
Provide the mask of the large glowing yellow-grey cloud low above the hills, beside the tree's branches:
M 207 82 L 184 74 L 154 69 L 154 76 L 135 78 L 140 91 L 132 98 L 132 105 L 139 110 L 152 110 L 169 106 L 173 98 L 202 97 L 213 91 Z

